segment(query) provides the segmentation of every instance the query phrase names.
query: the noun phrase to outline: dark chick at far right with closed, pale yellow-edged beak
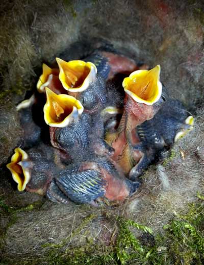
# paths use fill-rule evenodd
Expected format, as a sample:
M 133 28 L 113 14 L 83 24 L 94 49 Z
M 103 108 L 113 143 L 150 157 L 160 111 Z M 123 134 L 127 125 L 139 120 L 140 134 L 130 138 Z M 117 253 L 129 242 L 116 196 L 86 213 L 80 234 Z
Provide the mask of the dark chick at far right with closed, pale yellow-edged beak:
M 174 142 L 191 131 L 193 124 L 194 118 L 183 104 L 178 100 L 168 99 L 154 118 L 137 127 L 140 142 L 134 149 L 142 152 L 142 157 L 130 171 L 130 179 L 137 180 L 159 158 L 162 151 L 172 147 Z

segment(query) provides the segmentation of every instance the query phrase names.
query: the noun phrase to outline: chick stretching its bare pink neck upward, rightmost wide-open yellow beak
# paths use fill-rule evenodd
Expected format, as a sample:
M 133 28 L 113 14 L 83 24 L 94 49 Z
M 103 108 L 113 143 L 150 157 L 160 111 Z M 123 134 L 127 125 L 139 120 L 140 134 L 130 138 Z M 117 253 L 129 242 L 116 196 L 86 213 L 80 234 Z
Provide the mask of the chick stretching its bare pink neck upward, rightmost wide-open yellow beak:
M 117 131 L 108 134 L 106 140 L 115 150 L 112 158 L 122 166 L 125 174 L 141 158 L 141 153 L 133 148 L 139 141 L 136 127 L 154 117 L 166 101 L 166 89 L 159 76 L 160 66 L 157 65 L 151 70 L 137 70 L 123 80 L 126 93 L 123 115 Z

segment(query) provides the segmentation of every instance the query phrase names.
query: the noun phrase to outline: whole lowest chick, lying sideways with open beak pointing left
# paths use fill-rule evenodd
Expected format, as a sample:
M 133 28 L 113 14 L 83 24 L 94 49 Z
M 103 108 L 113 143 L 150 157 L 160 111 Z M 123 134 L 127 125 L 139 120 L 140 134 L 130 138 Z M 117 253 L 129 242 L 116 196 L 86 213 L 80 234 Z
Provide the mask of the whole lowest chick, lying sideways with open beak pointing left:
M 90 203 L 106 198 L 123 201 L 139 187 L 105 157 L 90 156 L 60 168 L 52 147 L 41 144 L 26 151 L 16 148 L 7 164 L 19 191 L 36 192 L 57 203 Z M 86 159 L 85 159 L 86 157 Z

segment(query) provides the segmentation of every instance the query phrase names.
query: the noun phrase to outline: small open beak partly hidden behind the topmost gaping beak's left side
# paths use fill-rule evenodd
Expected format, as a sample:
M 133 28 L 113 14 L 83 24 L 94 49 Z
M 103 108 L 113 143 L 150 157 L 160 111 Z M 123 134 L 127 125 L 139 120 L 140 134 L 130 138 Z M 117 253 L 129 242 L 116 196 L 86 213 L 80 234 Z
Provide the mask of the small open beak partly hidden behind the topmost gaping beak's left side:
M 52 79 L 51 75 L 58 76 L 60 73 L 57 68 L 50 68 L 45 63 L 42 64 L 42 75 L 40 76 L 37 83 L 37 90 L 39 93 L 43 93 L 45 91 L 45 87 L 49 86 L 50 79 Z

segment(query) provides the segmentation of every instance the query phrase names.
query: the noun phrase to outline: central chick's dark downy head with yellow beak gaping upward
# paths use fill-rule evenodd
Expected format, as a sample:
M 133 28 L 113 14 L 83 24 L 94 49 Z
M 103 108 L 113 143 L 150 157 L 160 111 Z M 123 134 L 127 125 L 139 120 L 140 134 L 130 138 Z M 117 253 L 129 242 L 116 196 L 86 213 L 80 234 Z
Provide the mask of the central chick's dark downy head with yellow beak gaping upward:
M 106 149 L 100 113 L 84 113 L 81 102 L 70 95 L 57 95 L 48 88 L 46 94 L 44 119 L 50 126 L 50 140 L 55 148 L 65 151 L 72 159 L 79 158 L 87 149 L 90 152 L 96 147 L 98 152 Z

